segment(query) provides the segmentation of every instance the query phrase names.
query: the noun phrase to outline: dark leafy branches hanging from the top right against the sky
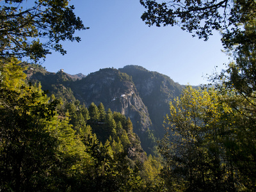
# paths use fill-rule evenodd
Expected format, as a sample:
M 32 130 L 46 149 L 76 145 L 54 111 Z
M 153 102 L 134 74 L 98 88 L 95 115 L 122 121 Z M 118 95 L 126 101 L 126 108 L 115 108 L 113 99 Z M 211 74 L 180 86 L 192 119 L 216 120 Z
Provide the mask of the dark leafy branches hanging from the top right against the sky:
M 163 3 L 140 0 L 140 3 L 147 9 L 141 19 L 149 26 L 178 25 L 205 40 L 214 29 L 236 33 L 239 24 L 255 17 L 256 9 L 255 2 L 250 0 L 172 0 Z

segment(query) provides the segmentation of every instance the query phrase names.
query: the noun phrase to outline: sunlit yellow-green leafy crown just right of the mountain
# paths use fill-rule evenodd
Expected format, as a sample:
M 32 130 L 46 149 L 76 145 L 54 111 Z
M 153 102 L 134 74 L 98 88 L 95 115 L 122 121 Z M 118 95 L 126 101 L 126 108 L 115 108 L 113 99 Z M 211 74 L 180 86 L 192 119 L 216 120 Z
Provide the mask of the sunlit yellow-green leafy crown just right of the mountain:
M 170 115 L 166 119 L 175 129 L 206 129 L 217 125 L 232 109 L 214 89 L 201 90 L 188 86 L 180 96 L 170 102 Z

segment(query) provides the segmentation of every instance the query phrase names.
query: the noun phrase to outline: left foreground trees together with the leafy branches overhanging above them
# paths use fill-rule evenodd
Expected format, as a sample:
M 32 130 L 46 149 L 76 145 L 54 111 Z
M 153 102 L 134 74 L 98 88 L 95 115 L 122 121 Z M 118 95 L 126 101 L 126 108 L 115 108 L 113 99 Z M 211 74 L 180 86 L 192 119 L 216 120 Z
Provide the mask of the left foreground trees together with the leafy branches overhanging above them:
M 0 190 L 63 191 L 90 164 L 68 120 L 57 118 L 58 102 L 26 84 L 17 60 L 65 54 L 61 41 L 79 42 L 74 33 L 85 28 L 73 10 L 59 0 L 0 2 Z

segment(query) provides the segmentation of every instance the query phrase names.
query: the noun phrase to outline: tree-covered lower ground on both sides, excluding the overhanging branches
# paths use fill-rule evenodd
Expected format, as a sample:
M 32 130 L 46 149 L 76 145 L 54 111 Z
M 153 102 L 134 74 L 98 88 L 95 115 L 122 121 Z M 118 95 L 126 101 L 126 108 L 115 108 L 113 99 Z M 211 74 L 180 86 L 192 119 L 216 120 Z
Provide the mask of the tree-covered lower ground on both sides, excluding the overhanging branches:
M 146 156 L 121 113 L 102 103 L 61 104 L 40 84 L 26 83 L 19 61 L 7 64 L 1 65 L 2 190 L 255 189 L 252 97 L 186 88 L 170 104 L 161 159 Z

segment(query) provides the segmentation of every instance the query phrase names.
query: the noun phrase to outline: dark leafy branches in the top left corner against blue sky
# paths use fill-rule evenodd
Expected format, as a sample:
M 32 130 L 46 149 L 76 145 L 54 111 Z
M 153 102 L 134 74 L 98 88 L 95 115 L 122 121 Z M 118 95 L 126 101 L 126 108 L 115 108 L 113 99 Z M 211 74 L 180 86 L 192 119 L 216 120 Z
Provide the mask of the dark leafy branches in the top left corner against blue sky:
M 50 50 L 65 54 L 63 40 L 80 41 L 76 30 L 86 29 L 68 1 L 5 1 L 0 6 L 1 57 L 45 58 Z M 47 41 L 43 41 L 47 38 Z

